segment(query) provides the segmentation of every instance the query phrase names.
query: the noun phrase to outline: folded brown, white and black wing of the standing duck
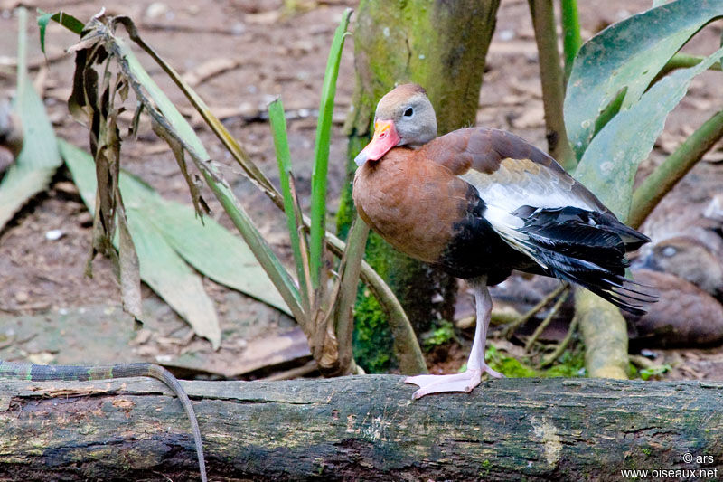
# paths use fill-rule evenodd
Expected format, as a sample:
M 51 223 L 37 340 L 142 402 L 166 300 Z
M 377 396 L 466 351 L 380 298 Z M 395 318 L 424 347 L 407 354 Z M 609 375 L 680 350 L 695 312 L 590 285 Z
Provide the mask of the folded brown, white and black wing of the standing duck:
M 509 132 L 465 128 L 422 147 L 471 184 L 484 218 L 550 276 L 576 282 L 629 311 L 650 301 L 624 278 L 625 252 L 650 241 L 619 222 L 552 157 Z

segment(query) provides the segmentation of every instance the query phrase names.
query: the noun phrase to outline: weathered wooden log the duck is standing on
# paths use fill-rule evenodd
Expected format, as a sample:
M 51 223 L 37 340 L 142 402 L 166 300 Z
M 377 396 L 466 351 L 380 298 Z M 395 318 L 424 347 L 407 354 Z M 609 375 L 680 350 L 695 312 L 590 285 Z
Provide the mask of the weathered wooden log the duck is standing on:
M 504 379 L 417 402 L 393 375 L 183 386 L 211 479 L 618 480 L 723 464 L 723 383 Z M 160 383 L 0 381 L 0 479 L 196 471 Z

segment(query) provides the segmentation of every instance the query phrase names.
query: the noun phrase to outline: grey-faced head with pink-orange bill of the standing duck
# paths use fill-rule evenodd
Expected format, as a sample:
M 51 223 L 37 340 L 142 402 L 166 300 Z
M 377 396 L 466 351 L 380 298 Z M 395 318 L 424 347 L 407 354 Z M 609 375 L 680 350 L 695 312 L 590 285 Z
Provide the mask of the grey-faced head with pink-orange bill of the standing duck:
M 418 147 L 435 137 L 437 116 L 427 91 L 417 84 L 402 84 L 380 99 L 374 114 L 374 137 L 354 162 L 376 161 L 392 147 Z

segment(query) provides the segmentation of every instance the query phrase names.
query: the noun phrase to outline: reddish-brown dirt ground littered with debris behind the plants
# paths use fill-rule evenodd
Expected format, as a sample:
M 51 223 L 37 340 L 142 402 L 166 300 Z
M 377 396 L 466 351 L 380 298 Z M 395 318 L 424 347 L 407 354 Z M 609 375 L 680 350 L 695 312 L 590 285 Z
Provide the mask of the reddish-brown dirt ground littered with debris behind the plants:
M 80 19 L 89 19 L 101 7 L 99 2 L 85 0 L 30 3 L 48 12 L 62 8 Z M 10 10 L 14 4 L 7 0 L 0 2 L 0 95 L 12 95 L 14 91 L 12 64 L 16 55 L 17 21 Z M 276 160 L 264 111 L 269 100 L 282 97 L 286 110 L 293 115 L 289 119 L 289 137 L 297 184 L 302 203 L 307 207 L 315 109 L 318 108 L 328 46 L 344 8 L 355 6 L 356 2 L 190 0 L 175 4 L 129 0 L 122 6 L 115 4 L 108 5 L 108 13 L 129 15 L 136 21 L 146 42 L 153 45 L 164 59 L 178 71 L 196 76 L 197 91 L 223 118 L 253 161 L 275 183 L 278 179 Z M 607 24 L 642 11 L 649 5 L 648 0 L 612 0 L 598 9 L 595 3 L 580 2 L 583 37 L 587 38 Z M 487 57 L 477 123 L 511 130 L 544 149 L 537 53 L 527 2 L 502 0 L 497 18 Z M 690 45 L 690 51 L 701 54 L 712 52 L 718 45 L 720 30 L 719 23 L 711 25 L 701 33 L 700 39 Z M 40 79 L 46 106 L 58 135 L 77 146 L 88 146 L 87 130 L 70 118 L 65 105 L 65 99 L 70 94 L 73 61 L 63 53 L 63 49 L 75 39 L 59 25 L 51 24 L 47 36 L 50 62 L 46 64 L 42 61 L 36 41 L 37 27 L 33 23 L 29 35 L 33 75 Z M 344 47 L 334 113 L 329 173 L 330 216 L 338 205 L 344 183 L 346 142 L 343 119 L 351 106 L 352 57 L 350 39 Z M 228 70 L 205 78 L 213 62 L 220 60 L 230 61 Z M 174 103 L 190 112 L 182 94 L 174 89 L 160 69 L 150 61 L 143 58 L 142 61 Z M 674 111 L 655 152 L 643 165 L 643 171 L 649 172 L 681 139 L 689 136 L 704 119 L 720 109 L 723 90 L 719 88 L 719 75 L 718 72 L 706 72 L 693 81 L 690 96 Z M 196 125 L 200 127 L 200 124 Z M 239 167 L 232 164 L 207 129 L 200 128 L 199 134 L 211 156 L 223 165 L 223 174 L 258 222 L 261 232 L 278 252 L 287 256 L 289 247 L 284 221 L 276 207 L 239 174 Z M 125 143 L 123 149 L 126 169 L 142 177 L 164 196 L 190 203 L 183 175 L 178 171 L 173 156 L 150 129 L 142 132 L 136 142 Z M 682 184 L 671 196 L 669 205 L 672 207 L 666 209 L 675 210 L 682 203 L 688 203 L 691 191 L 699 193 L 701 199 L 719 193 L 723 185 L 722 155 L 720 151 L 711 153 L 707 162 L 696 167 L 687 184 Z M 699 182 L 700 179 L 705 182 Z M 146 304 L 152 305 L 157 324 L 146 326 L 146 330 L 132 332 L 128 320 L 117 311 L 111 310 L 111 314 L 107 309 L 104 311 L 102 307 L 117 305 L 119 291 L 107 260 L 95 260 L 93 279 L 83 275 L 89 251 L 91 218 L 69 180 L 67 171 L 61 169 L 51 189 L 34 199 L 0 232 L 0 358 L 66 363 L 98 360 L 98 356 L 103 355 L 102 351 L 84 352 L 88 350 L 87 345 L 78 340 L 72 341 L 72 336 L 72 343 L 57 341 L 57 337 L 67 339 L 62 338 L 67 333 L 83 333 L 77 331 L 77 326 L 72 326 L 75 323 L 72 320 L 76 318 L 70 317 L 67 330 L 63 328 L 62 333 L 50 336 L 55 340 L 54 344 L 41 343 L 42 336 L 23 333 L 23 323 L 25 326 L 30 323 L 27 320 L 35 319 L 37 322 L 37 317 L 44 317 L 43 314 L 61 312 L 77 313 L 79 317 L 82 313 L 106 313 L 101 316 L 103 322 L 100 324 L 108 332 L 105 337 L 122 339 L 113 351 L 105 353 L 107 356 L 110 353 L 117 357 L 140 357 L 218 376 L 259 375 L 255 372 L 259 369 L 258 361 L 256 364 L 249 362 L 243 370 L 234 369 L 231 365 L 236 363 L 234 360 L 238 361 L 239 356 L 252 351 L 249 344 L 260 343 L 259 340 L 270 329 L 275 336 L 293 338 L 288 345 L 292 354 L 282 357 L 282 362 L 304 362 L 304 340 L 294 331 L 292 320 L 272 308 L 259 306 L 248 297 L 230 293 L 209 280 L 204 282 L 217 303 L 224 331 L 221 350 L 216 354 L 211 353 L 207 342 L 193 337 L 183 321 L 174 317 L 157 300 L 154 301 L 155 296 L 148 288 L 145 288 L 144 296 L 148 300 Z M 700 194 L 701 190 L 703 194 Z M 209 201 L 213 199 L 208 193 L 205 198 Z M 222 210 L 218 204 L 211 202 L 211 208 L 215 217 L 227 223 L 220 215 Z M 681 213 L 681 216 L 690 216 L 690 210 L 687 214 Z M 61 238 L 56 241 L 46 239 L 46 233 L 51 230 L 61 230 Z M 98 307 L 101 307 L 99 312 L 95 311 Z M 44 323 L 47 324 L 49 318 L 46 317 Z M 5 320 L 6 326 L 2 326 L 2 320 Z M 92 329 L 92 324 L 83 323 L 78 322 L 77 325 Z M 124 348 L 126 343 L 131 344 L 129 352 Z M 64 354 L 67 346 L 78 346 L 84 354 Z M 466 353 L 458 349 L 453 352 L 457 353 L 455 360 L 464 358 Z M 723 366 L 723 353 L 718 348 L 654 352 L 660 354 L 656 363 L 663 360 L 675 365 L 676 368 L 668 375 L 671 378 L 723 379 L 723 371 L 719 370 Z M 204 361 L 189 361 L 192 358 Z M 214 361 L 209 361 L 211 358 Z M 280 362 L 277 368 L 283 369 L 284 363 Z

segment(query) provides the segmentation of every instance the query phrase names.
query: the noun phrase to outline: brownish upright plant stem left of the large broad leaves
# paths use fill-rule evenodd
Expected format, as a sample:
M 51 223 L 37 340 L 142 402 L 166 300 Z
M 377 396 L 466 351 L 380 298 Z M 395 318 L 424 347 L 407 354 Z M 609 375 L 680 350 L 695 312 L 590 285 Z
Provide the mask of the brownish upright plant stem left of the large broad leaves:
M 568 131 L 565 128 L 562 114 L 565 90 L 559 61 L 555 12 L 552 8 L 552 0 L 528 0 L 528 2 L 540 56 L 540 81 L 542 83 L 542 103 L 545 108 L 548 150 L 560 165 L 570 171 L 577 165 L 577 160 L 568 141 Z

